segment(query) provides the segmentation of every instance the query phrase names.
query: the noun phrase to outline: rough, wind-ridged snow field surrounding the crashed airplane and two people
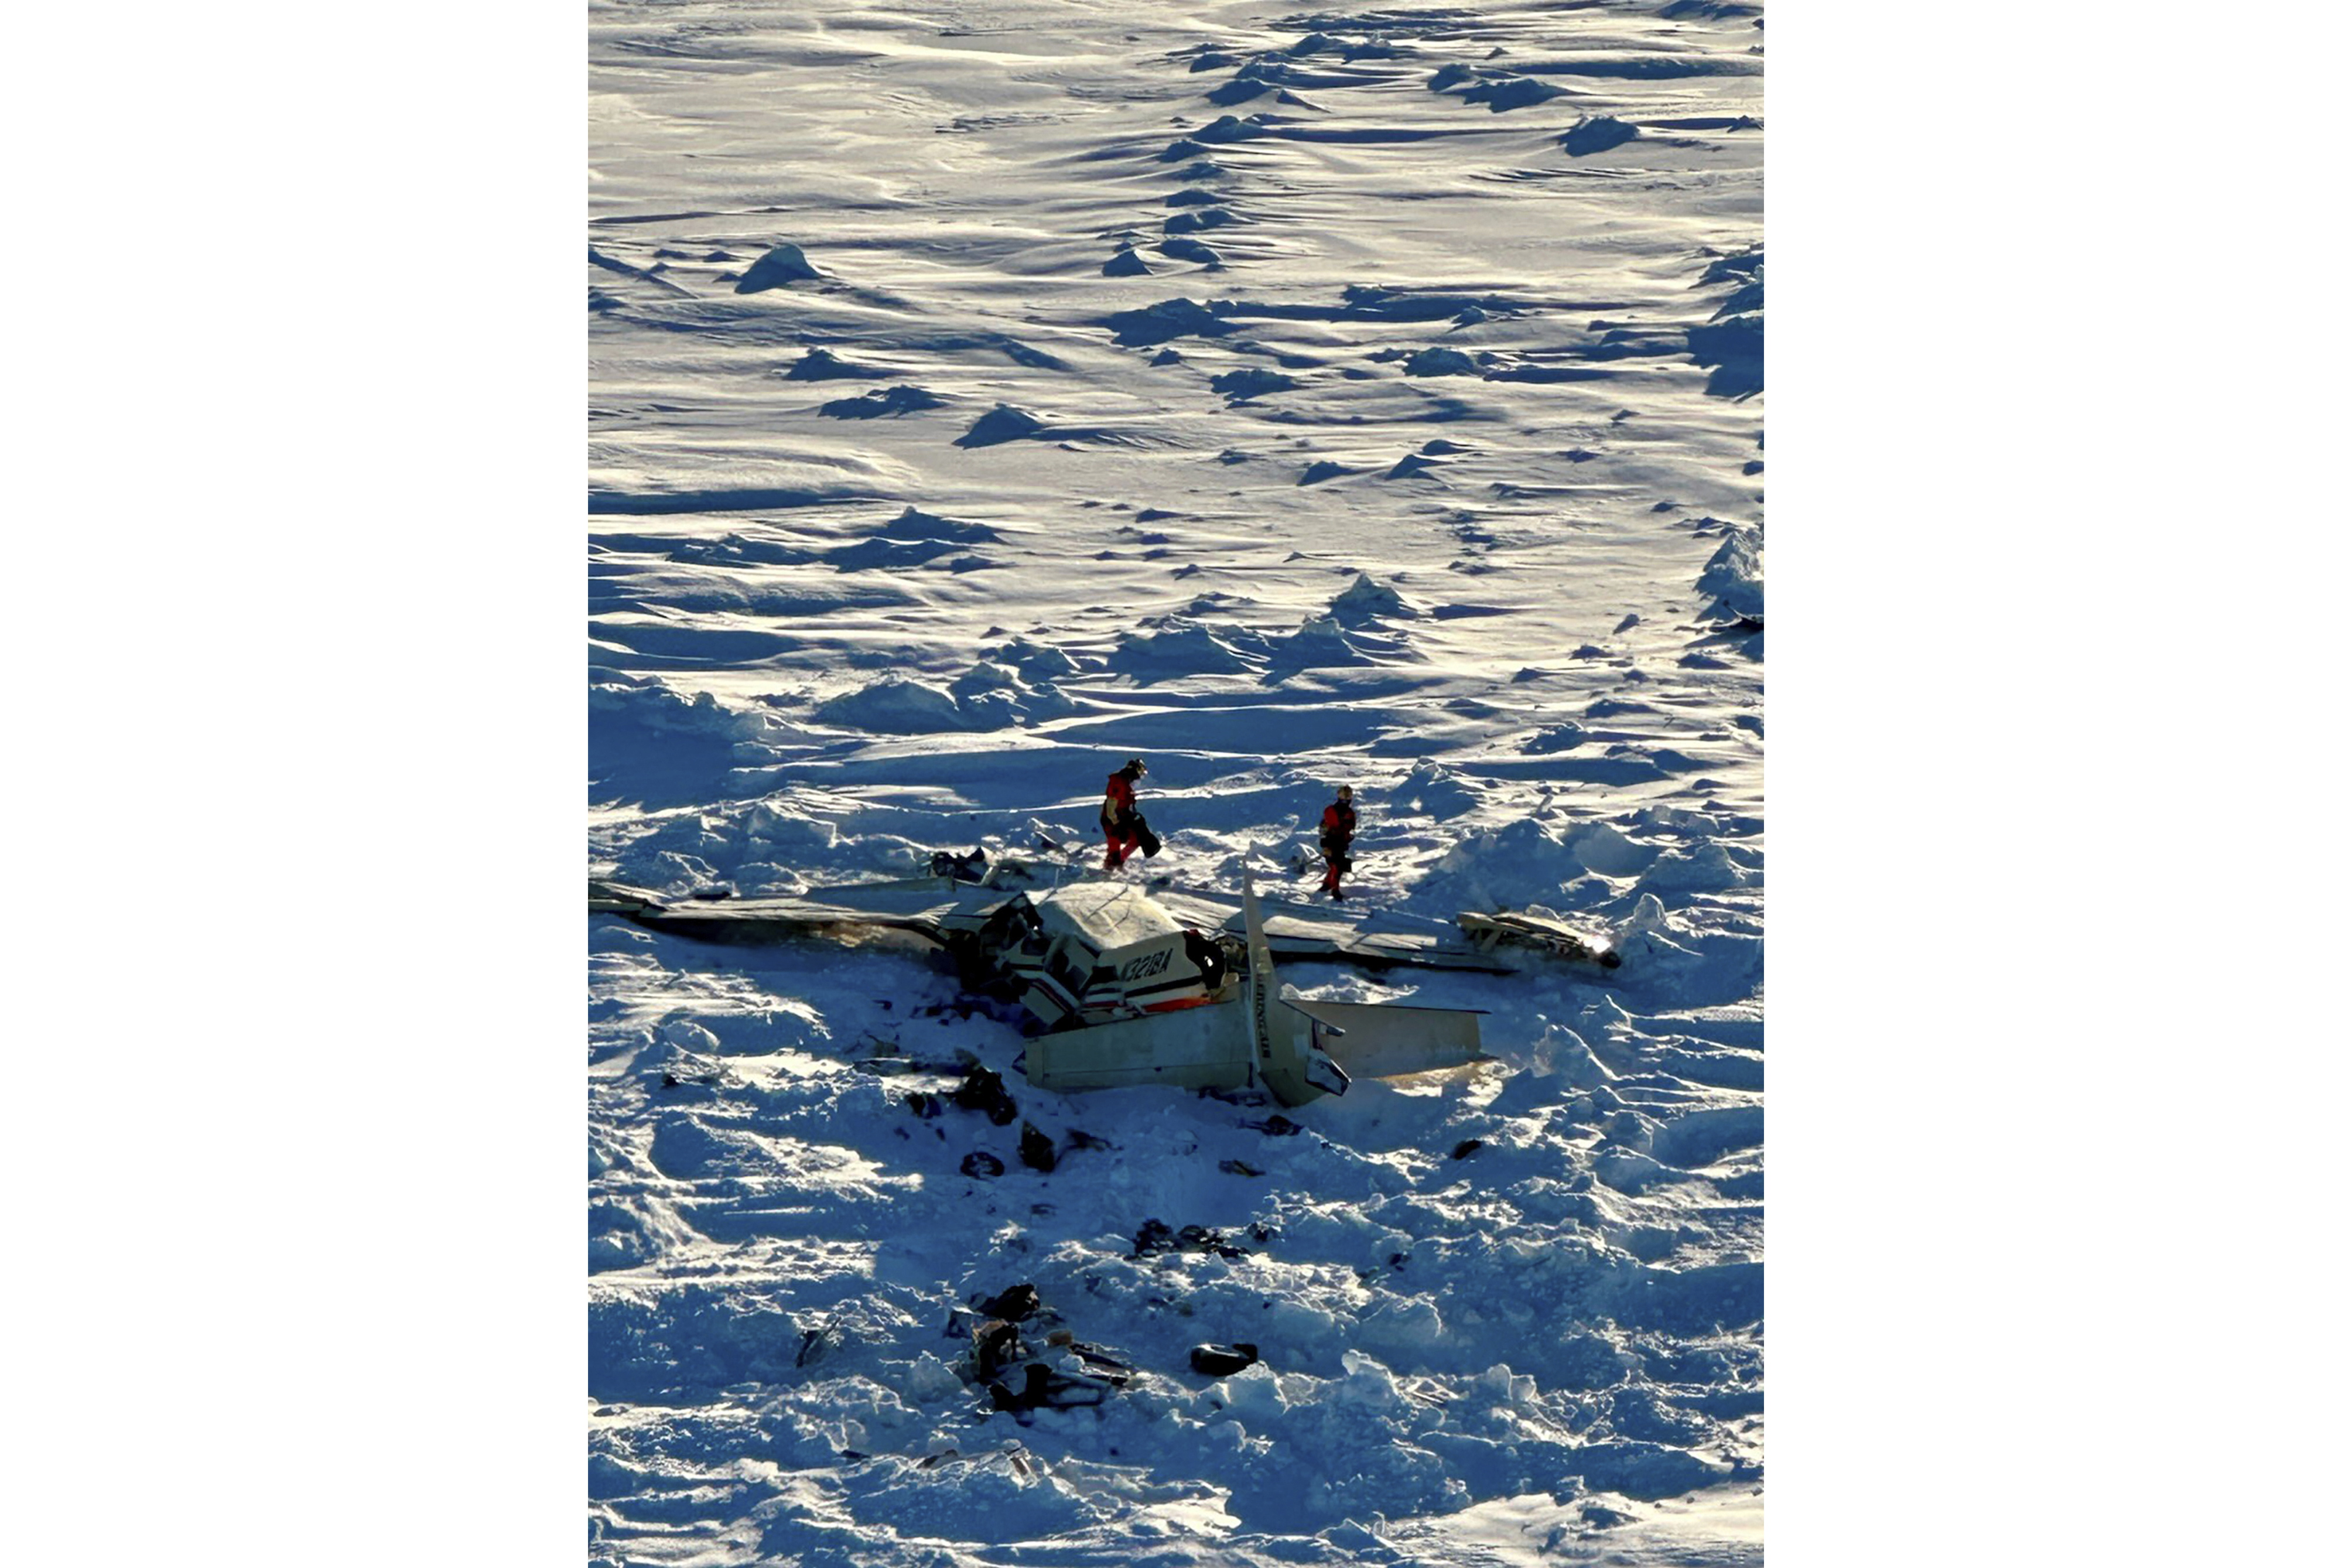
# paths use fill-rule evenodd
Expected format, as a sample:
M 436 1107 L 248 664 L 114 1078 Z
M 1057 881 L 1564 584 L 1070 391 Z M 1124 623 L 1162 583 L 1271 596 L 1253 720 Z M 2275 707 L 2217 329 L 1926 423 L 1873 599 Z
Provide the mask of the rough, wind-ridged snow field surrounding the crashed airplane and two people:
M 1303 898 L 1348 780 L 1374 919 L 1625 947 L 1287 966 L 1498 1060 L 1277 1119 L 595 919 L 595 1561 L 1759 1561 L 1759 26 L 590 7 L 593 872 L 1080 875 L 1141 752 L 1129 877 Z M 1018 1284 L 1127 1387 L 997 1410 Z

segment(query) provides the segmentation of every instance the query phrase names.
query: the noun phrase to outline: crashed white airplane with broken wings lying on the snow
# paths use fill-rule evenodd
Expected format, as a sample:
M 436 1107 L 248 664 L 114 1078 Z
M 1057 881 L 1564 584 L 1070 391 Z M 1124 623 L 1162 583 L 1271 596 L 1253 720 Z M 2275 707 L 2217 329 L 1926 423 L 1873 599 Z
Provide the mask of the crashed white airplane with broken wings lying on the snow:
M 1489 973 L 1519 969 L 1505 947 L 1597 969 L 1618 957 L 1534 914 L 1463 914 L 1458 931 L 1397 917 L 1381 931 L 1294 912 L 1268 919 L 1247 882 L 1240 907 L 1124 882 L 1002 889 L 955 875 L 680 903 L 590 882 L 588 907 L 717 943 L 906 931 L 946 947 L 967 987 L 1028 1009 L 1044 1030 L 1025 1058 L 1037 1088 L 1263 1086 L 1282 1105 L 1345 1093 L 1350 1077 L 1458 1067 L 1484 1051 L 1477 1011 L 1289 997 L 1275 954 Z

